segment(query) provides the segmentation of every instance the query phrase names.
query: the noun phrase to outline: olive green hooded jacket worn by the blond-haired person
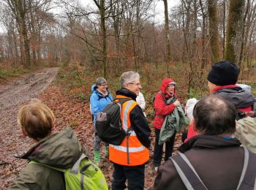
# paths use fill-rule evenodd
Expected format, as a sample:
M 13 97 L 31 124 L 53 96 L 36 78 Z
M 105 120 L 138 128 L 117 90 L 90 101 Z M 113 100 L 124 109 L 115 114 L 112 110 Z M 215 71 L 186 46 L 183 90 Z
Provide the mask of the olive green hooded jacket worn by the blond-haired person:
M 82 153 L 85 153 L 83 146 L 78 142 L 72 129 L 67 128 L 59 134 L 40 140 L 27 153 L 20 156 L 20 159 L 65 169 L 72 167 Z M 28 164 L 10 189 L 65 189 L 64 175 L 41 164 Z

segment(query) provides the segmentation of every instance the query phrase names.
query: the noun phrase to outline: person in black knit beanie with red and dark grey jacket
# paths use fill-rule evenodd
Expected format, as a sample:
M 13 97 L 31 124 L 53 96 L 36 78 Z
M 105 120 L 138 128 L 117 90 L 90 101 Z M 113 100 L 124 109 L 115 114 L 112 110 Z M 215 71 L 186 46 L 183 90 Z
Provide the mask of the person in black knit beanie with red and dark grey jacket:
M 255 97 L 236 85 L 239 72 L 238 67 L 232 62 L 219 61 L 211 67 L 207 77 L 210 94 L 219 94 L 232 102 L 238 110 L 237 120 L 243 118 L 244 113 L 252 111 L 255 104 Z M 187 142 L 196 134 L 192 124 L 189 125 L 187 139 L 184 141 Z

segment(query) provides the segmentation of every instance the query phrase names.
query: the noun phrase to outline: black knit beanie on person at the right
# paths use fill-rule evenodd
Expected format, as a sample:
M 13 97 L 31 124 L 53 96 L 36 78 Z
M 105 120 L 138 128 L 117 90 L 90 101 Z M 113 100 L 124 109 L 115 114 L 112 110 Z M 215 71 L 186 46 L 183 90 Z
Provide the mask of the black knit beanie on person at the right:
M 238 80 L 239 69 L 230 61 L 220 61 L 212 66 L 207 80 L 217 86 L 234 85 Z

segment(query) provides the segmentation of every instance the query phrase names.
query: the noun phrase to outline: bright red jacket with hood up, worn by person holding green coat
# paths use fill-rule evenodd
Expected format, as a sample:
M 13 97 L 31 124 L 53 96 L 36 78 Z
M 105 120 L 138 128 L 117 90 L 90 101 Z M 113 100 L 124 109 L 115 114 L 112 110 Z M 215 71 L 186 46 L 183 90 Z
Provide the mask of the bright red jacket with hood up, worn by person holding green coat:
M 164 117 L 165 115 L 170 114 L 173 112 L 175 105 L 174 104 L 165 104 L 165 99 L 169 99 L 170 96 L 166 94 L 165 89 L 167 88 L 168 84 L 171 82 L 174 82 L 172 78 L 165 78 L 162 80 L 162 85 L 161 85 L 161 92 L 157 93 L 157 96 L 154 100 L 154 109 L 156 111 L 156 116 L 154 118 L 154 127 L 157 129 L 161 129 L 162 123 L 164 123 Z M 175 92 L 175 91 L 174 91 Z M 173 96 L 176 94 L 174 93 Z M 165 99 L 163 98 L 165 96 Z

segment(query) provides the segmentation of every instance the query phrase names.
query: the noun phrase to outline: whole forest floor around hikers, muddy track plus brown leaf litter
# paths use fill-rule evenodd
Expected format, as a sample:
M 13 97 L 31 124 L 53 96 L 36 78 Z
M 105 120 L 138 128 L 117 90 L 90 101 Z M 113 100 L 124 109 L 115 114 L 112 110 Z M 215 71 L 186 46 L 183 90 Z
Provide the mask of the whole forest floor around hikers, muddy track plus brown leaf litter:
M 25 153 L 34 143 L 28 137 L 23 138 L 17 124 L 18 109 L 37 98 L 48 105 L 56 116 L 53 132 L 59 132 L 72 126 L 78 139 L 86 148 L 86 154 L 93 159 L 94 126 L 89 112 L 89 102 L 69 99 L 61 94 L 62 87 L 51 83 L 58 68 L 42 69 L 40 72 L 26 75 L 4 86 L 0 86 L 0 189 L 7 189 L 19 172 L 26 167 L 27 161 L 16 159 L 15 153 Z M 154 129 L 151 128 L 151 158 L 154 149 Z M 181 135 L 177 135 L 174 150 L 181 144 Z M 104 154 L 105 145 L 101 145 L 102 172 L 111 187 L 113 167 Z M 153 186 L 157 173 L 152 161 L 146 164 L 145 189 Z

